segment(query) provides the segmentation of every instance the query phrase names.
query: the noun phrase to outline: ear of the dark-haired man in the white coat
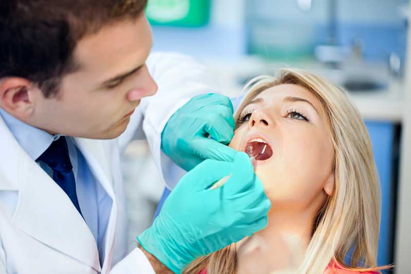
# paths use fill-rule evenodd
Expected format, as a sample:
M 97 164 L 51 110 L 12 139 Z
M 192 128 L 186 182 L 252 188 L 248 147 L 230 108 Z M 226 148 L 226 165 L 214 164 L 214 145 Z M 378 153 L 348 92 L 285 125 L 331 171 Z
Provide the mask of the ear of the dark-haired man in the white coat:
M 34 87 L 30 81 L 19 77 L 6 77 L 0 80 L 0 107 L 16 118 L 29 117 L 34 111 L 32 92 Z

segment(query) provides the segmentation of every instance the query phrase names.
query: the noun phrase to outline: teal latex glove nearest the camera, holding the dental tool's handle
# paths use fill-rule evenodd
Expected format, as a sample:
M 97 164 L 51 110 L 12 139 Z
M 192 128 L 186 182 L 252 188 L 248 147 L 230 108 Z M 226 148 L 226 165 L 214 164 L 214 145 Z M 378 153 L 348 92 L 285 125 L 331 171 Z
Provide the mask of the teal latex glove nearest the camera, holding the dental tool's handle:
M 225 185 L 209 189 L 229 174 Z M 182 177 L 153 225 L 137 239 L 145 250 L 180 273 L 195 258 L 266 227 L 270 207 L 246 153 L 238 152 L 234 162 L 204 160 Z

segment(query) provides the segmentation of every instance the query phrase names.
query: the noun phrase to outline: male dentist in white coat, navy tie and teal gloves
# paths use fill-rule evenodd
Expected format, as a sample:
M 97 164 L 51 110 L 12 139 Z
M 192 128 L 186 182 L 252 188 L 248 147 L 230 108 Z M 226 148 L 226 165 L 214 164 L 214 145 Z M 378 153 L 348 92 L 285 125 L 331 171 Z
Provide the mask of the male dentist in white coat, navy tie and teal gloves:
M 0 273 L 178 273 L 267 225 L 250 160 L 225 145 L 230 100 L 190 58 L 150 54 L 145 4 L 0 3 Z M 120 153 L 140 130 L 164 174 L 189 172 L 127 254 Z

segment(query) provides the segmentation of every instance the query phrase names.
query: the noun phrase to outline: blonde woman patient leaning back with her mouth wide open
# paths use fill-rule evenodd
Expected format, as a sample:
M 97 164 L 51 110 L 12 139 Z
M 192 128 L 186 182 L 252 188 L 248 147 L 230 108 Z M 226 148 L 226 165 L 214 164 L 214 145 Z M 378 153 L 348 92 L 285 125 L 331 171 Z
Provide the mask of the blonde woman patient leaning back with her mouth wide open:
M 246 88 L 230 147 L 255 157 L 255 173 L 272 203 L 268 226 L 198 258 L 184 273 L 373 273 L 385 268 L 376 265 L 376 165 L 366 127 L 346 92 L 296 69 L 258 77 Z

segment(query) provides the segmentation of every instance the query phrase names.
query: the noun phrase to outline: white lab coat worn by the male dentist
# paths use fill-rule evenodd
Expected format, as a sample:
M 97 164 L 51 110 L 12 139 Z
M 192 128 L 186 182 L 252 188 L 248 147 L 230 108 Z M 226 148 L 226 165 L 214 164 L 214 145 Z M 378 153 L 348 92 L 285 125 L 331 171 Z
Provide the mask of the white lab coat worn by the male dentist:
M 140 249 L 126 254 L 127 243 L 136 239 L 126 239 L 120 153 L 142 129 L 156 163 L 169 166 L 160 151 L 166 121 L 194 95 L 214 90 L 207 70 L 180 54 L 152 54 L 147 66 L 159 90 L 141 101 L 123 135 L 114 140 L 74 138 L 96 182 L 113 200 L 101 247 L 105 254 L 102 266 L 96 241 L 83 218 L 63 190 L 20 147 L 0 116 L 0 274 L 154 273 Z

